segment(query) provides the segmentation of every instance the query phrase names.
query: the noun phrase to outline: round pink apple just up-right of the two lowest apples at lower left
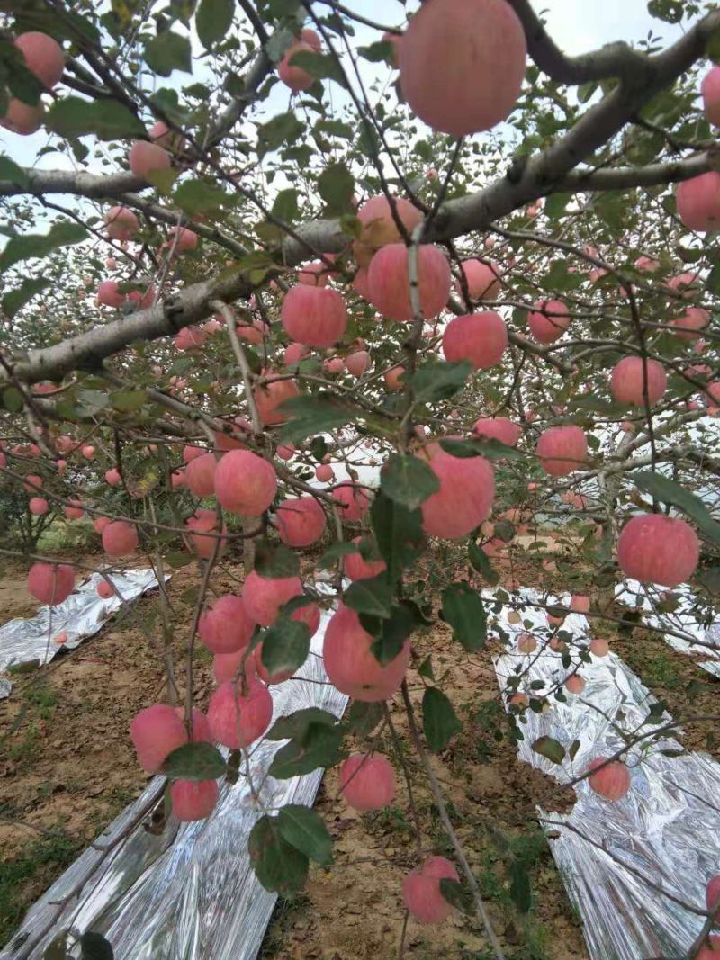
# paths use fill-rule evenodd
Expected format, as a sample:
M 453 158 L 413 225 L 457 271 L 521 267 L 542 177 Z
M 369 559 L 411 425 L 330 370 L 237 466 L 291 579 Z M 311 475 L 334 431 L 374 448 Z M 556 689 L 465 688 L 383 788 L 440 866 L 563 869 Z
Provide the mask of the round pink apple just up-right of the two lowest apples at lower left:
M 207 722 L 213 737 L 239 750 L 249 747 L 270 726 L 273 718 L 273 698 L 267 686 L 255 678 L 245 684 L 228 680 L 215 690 L 207 705 Z

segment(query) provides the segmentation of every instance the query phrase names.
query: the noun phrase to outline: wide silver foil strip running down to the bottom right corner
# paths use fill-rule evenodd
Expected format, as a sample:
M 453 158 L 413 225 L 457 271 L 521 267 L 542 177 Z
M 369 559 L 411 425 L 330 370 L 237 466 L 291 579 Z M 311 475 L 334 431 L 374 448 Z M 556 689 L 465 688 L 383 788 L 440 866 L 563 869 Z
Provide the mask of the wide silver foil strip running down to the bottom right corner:
M 494 591 L 486 595 L 491 599 Z M 548 630 L 544 612 L 522 607 L 523 601 L 540 601 L 540 594 L 522 589 L 519 597 L 519 607 L 512 606 L 530 626 L 509 623 L 510 606 L 496 614 L 498 625 L 512 635 L 512 651 L 519 633 L 541 637 Z M 591 638 L 588 620 L 577 613 L 568 615 L 561 629 L 576 641 Z M 528 664 L 525 689 L 534 681 L 555 684 L 569 672 L 561 655 L 548 648 L 525 657 L 509 652 L 495 660 L 500 688 Z M 619 750 L 624 743 L 619 731 L 646 732 L 670 720 L 667 713 L 648 717 L 656 699 L 614 654 L 593 656 L 581 673 L 587 682 L 582 694 L 567 694 L 565 704 L 555 702 L 546 713 L 526 711 L 525 738 L 518 745 L 520 759 L 565 783 L 584 773 L 594 757 Z M 535 753 L 532 744 L 540 736 L 559 740 L 566 751 L 579 741 L 574 760 L 565 757 L 558 765 Z M 682 753 L 663 756 L 662 750 Z M 706 883 L 720 873 L 720 764 L 707 754 L 684 752 L 670 736 L 652 747 L 649 741 L 644 749 L 636 746 L 630 764 L 632 787 L 622 800 L 604 800 L 583 780 L 573 787 L 577 803 L 569 814 L 545 812 L 539 805 L 540 824 L 582 918 L 592 960 L 682 957 L 705 918 L 671 898 L 704 909 Z

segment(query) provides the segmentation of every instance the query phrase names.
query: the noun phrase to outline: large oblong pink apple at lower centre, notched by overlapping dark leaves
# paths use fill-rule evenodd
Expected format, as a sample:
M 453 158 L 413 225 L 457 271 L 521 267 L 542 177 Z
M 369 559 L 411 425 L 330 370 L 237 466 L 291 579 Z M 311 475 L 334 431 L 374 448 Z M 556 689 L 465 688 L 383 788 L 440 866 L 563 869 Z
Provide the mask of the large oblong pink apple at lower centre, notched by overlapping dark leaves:
M 382 666 L 371 652 L 374 637 L 365 631 L 354 610 L 340 604 L 327 625 L 323 658 L 330 683 L 353 700 L 387 700 L 405 677 L 410 661 L 406 639 L 394 660 Z

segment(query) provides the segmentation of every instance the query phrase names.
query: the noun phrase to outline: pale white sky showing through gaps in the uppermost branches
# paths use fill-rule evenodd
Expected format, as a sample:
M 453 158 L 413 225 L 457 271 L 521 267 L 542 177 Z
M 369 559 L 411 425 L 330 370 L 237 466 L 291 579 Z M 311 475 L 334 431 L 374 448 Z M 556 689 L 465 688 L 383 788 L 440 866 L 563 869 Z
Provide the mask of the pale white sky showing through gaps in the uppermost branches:
M 649 31 L 660 36 L 663 45 L 667 45 L 681 35 L 680 27 L 671 27 L 653 19 L 647 12 L 646 0 L 531 0 L 538 12 L 544 12 L 547 29 L 564 51 L 570 55 L 587 53 L 588 50 L 612 42 L 618 38 L 626 40 L 645 39 Z M 397 0 L 346 0 L 348 9 L 387 26 L 402 22 L 404 8 Z M 318 9 L 322 9 L 319 4 Z M 371 28 L 357 25 L 355 41 L 358 45 L 371 43 L 379 36 Z M 365 64 L 365 77 L 372 76 L 368 71 L 380 70 L 387 73 L 385 64 Z M 196 70 L 194 78 L 198 79 Z M 191 80 L 187 74 L 174 73 L 170 81 L 163 84 L 187 84 Z M 268 115 L 287 109 L 286 91 L 277 84 L 268 106 Z M 36 160 L 37 152 L 49 142 L 47 134 L 38 132 L 30 137 L 20 137 L 0 129 L 0 152 L 11 156 L 15 162 L 24 166 L 33 165 L 42 169 L 72 169 L 69 157 L 59 153 L 50 153 Z M 97 170 L 96 172 L 101 172 Z

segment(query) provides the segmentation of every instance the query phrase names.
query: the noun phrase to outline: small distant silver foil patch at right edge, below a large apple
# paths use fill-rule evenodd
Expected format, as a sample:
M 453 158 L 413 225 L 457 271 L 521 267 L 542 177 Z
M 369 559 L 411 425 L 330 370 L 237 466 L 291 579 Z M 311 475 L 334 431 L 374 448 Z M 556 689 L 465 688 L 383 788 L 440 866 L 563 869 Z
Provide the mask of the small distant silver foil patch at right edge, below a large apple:
M 673 634 L 664 634 L 663 639 L 673 650 L 681 654 L 706 657 L 698 660 L 698 666 L 714 677 L 720 677 L 720 621 L 708 625 L 698 623 L 692 610 L 693 595 L 689 587 L 676 587 L 672 594 L 678 600 L 678 608 L 672 612 L 658 612 L 660 597 L 665 590 L 653 584 L 641 584 L 637 580 L 626 580 L 615 588 L 615 599 L 628 607 L 643 612 L 645 623 L 660 630 L 672 630 Z M 684 634 L 687 639 L 674 634 Z

